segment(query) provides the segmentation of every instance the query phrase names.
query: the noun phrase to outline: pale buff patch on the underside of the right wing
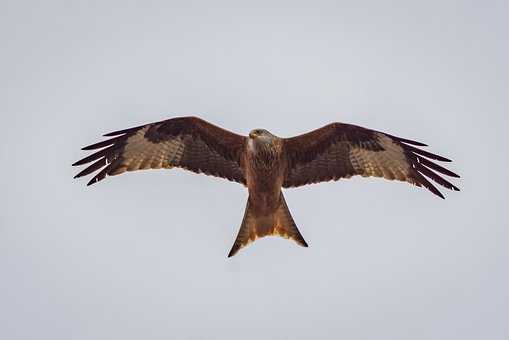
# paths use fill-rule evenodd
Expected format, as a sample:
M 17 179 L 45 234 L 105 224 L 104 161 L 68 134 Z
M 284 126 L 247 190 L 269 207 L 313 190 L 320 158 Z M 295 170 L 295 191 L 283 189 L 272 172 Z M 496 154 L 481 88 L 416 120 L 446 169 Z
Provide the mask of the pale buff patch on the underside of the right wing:
M 410 165 L 403 148 L 391 138 L 377 133 L 376 138 L 383 151 L 371 151 L 359 147 L 350 150 L 349 158 L 354 170 L 361 176 L 384 177 L 405 181 Z

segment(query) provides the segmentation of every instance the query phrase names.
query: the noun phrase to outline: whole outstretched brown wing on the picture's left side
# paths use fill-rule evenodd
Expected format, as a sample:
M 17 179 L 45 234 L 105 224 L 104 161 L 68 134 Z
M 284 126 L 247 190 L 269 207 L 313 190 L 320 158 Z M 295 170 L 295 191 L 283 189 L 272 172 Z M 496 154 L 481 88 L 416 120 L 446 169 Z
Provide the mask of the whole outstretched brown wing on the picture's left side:
M 240 159 L 245 137 L 196 117 L 179 117 L 105 134 L 111 139 L 76 163 L 92 165 L 75 178 L 100 170 L 88 185 L 125 171 L 180 167 L 245 184 Z

